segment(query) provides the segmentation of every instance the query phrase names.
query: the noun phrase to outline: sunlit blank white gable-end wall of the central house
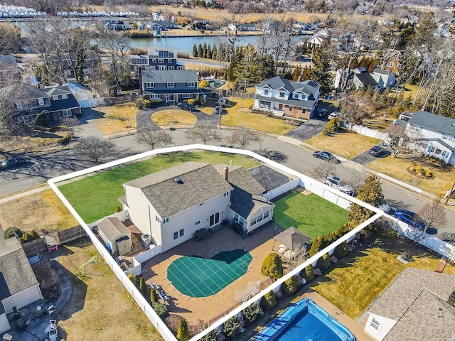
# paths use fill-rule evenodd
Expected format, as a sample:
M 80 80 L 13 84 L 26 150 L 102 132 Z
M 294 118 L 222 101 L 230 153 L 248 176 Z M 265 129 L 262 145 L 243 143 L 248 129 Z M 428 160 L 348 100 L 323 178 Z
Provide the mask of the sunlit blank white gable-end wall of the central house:
M 158 213 L 139 188 L 124 185 L 128 215 L 143 234 L 150 234 L 156 244 L 162 244 L 161 224 L 156 221 Z M 163 217 L 162 217 L 163 218 Z

